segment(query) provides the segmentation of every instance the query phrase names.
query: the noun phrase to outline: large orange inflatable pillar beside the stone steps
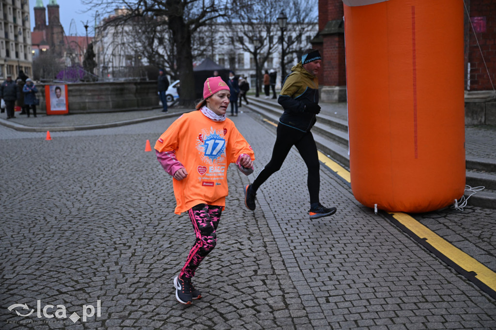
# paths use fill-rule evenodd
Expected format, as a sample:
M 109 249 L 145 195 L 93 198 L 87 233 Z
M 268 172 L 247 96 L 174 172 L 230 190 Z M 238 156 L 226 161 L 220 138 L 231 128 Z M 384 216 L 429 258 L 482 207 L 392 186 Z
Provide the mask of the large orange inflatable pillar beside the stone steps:
M 343 0 L 351 186 L 391 212 L 465 188 L 462 0 Z

